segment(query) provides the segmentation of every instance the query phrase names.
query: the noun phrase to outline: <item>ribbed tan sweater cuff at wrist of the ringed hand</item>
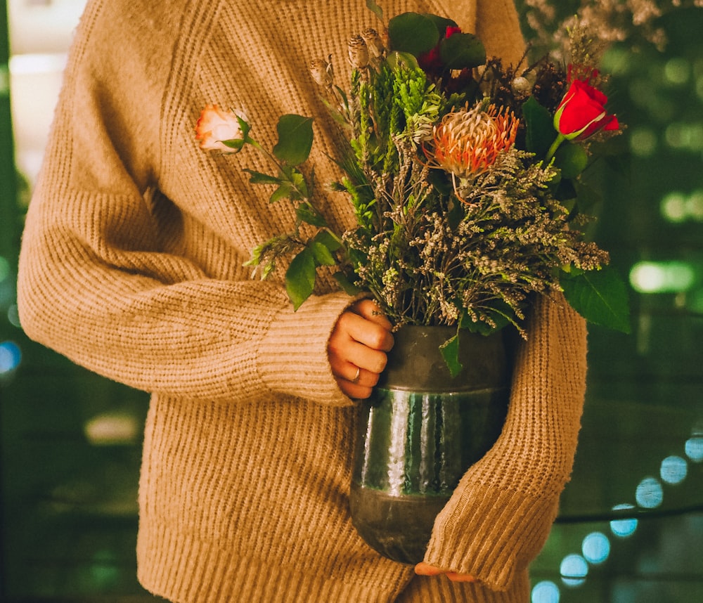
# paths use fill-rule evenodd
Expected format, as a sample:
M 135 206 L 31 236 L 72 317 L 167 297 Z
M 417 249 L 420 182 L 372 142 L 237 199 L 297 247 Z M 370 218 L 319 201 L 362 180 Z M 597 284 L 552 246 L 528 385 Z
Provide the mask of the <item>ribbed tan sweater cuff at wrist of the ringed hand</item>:
M 337 386 L 327 344 L 340 315 L 354 301 L 333 293 L 310 297 L 294 311 L 286 299 L 257 354 L 259 375 L 270 391 L 325 406 L 353 406 Z

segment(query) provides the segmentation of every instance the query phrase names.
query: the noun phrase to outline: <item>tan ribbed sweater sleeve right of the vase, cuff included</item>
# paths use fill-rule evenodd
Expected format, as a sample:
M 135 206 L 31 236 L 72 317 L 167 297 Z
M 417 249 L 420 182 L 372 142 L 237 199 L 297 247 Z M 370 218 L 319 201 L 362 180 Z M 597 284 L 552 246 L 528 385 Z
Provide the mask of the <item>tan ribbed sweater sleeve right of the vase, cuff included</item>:
M 543 547 L 572 472 L 586 391 L 586 324 L 540 298 L 496 444 L 437 517 L 425 561 L 505 590 Z

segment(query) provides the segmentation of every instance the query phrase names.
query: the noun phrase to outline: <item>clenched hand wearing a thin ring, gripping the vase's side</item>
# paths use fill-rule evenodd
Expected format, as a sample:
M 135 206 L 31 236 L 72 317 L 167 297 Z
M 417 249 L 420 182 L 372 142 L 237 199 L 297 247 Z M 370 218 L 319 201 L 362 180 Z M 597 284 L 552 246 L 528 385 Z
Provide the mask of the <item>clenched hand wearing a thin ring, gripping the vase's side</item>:
M 350 398 L 368 398 L 393 347 L 392 325 L 372 299 L 352 305 L 337 320 L 327 352 L 340 389 Z

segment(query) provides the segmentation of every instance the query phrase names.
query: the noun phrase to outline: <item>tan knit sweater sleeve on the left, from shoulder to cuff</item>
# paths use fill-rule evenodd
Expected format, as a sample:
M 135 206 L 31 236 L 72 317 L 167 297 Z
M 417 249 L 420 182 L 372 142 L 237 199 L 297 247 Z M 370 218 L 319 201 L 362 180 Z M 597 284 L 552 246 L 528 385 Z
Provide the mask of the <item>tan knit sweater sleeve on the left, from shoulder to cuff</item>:
M 348 405 L 326 342 L 349 297 L 311 299 L 294 313 L 280 282 L 251 280 L 242 267 L 250 243 L 264 236 L 255 219 L 243 218 L 231 235 L 225 227 L 206 231 L 193 214 L 209 208 L 186 198 L 200 190 L 217 212 L 225 196 L 236 207 L 252 205 L 251 187 L 203 183 L 186 167 L 183 209 L 157 192 L 164 141 L 172 138 L 161 131 L 172 123 L 162 112 L 189 108 L 174 72 L 191 48 L 181 30 L 200 11 L 198 3 L 167 4 L 95 0 L 86 9 L 27 215 L 22 326 L 76 363 L 147 391 L 235 401 L 289 394 Z M 195 149 L 194 123 L 180 146 L 211 161 Z M 234 171 L 221 169 L 222 179 Z

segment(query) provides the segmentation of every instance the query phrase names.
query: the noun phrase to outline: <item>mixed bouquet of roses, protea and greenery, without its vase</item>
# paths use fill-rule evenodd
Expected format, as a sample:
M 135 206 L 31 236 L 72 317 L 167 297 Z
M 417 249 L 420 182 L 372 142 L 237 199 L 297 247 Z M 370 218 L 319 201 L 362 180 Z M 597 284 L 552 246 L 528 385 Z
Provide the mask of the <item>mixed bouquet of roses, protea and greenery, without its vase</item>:
M 275 173 L 247 169 L 250 181 L 273 186 L 271 202 L 295 205 L 291 231 L 262 242 L 249 264 L 266 278 L 290 258 L 296 309 L 318 269 L 335 266 L 344 290 L 369 292 L 397 327 L 514 325 L 527 336 L 533 294 L 562 291 L 587 320 L 627 331 L 624 284 L 584 233 L 593 216 L 581 176 L 595 147 L 621 132 L 593 41 L 571 32 L 567 67 L 548 57 L 506 67 L 451 19 L 404 13 L 386 23 L 367 4 L 383 26 L 349 39 L 348 84 L 337 85 L 330 60 L 310 65 L 340 125 L 332 186 L 348 196 L 354 228 L 334 232 L 309 193 L 300 166 L 310 117 L 281 117 L 270 152 L 241 112 L 209 106 L 198 120 L 202 148 L 266 153 Z M 442 346 L 453 373 L 456 346 L 456 337 Z

